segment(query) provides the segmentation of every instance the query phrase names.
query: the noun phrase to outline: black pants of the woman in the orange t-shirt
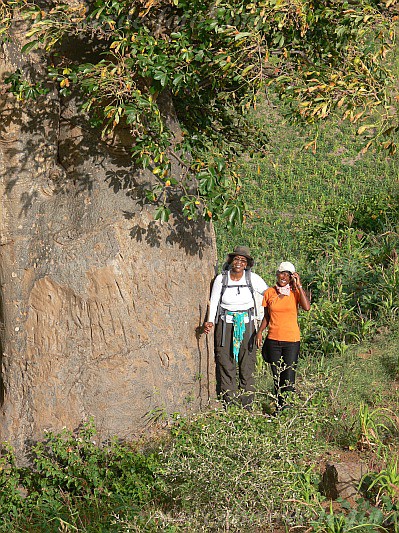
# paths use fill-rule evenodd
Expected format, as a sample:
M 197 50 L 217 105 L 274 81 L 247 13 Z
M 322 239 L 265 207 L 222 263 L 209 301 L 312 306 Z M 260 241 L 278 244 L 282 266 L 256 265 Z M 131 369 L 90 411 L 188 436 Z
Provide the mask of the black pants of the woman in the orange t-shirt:
M 285 393 L 295 391 L 295 374 L 300 342 L 275 341 L 266 338 L 262 347 L 263 359 L 270 364 L 273 374 L 277 407 L 285 404 Z

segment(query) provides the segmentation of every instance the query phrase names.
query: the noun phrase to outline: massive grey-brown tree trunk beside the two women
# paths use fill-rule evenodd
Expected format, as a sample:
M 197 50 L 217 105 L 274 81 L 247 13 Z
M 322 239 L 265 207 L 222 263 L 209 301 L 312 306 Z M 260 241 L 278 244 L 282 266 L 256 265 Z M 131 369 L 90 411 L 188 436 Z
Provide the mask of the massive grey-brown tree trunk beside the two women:
M 0 59 L 2 78 L 23 66 L 11 45 Z M 212 228 L 154 221 L 140 199 L 151 178 L 131 178 L 126 142 L 101 142 L 73 100 L 3 92 L 0 105 L 0 438 L 22 451 L 89 416 L 104 437 L 130 438 L 200 408 L 214 393 L 197 335 Z

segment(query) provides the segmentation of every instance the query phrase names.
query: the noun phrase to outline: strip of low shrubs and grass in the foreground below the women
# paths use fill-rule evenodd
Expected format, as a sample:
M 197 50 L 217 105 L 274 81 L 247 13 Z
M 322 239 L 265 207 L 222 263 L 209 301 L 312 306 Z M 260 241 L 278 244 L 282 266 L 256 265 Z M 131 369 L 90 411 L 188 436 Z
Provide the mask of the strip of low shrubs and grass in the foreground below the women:
M 299 526 L 309 531 L 388 527 L 397 521 L 399 510 L 396 458 L 384 442 L 386 437 L 391 444 L 397 439 L 396 419 L 396 425 L 383 420 L 389 435 L 382 428 L 378 452 L 385 453 L 386 466 L 368 474 L 364 500 L 351 509 L 342 502 L 342 512 L 324 510 L 318 468 L 326 451 L 356 445 L 362 403 L 370 405 L 378 423 L 376 410 L 388 398 L 382 396 L 383 388 L 390 388 L 384 364 L 380 357 L 363 360 L 348 353 L 302 360 L 298 394 L 291 409 L 279 416 L 265 414 L 272 388 L 268 375 L 268 381 L 258 381 L 252 412 L 215 406 L 191 418 L 175 414 L 168 438 L 153 443 L 101 443 L 88 422 L 75 433 L 46 433 L 28 450 L 31 468 L 17 467 L 12 451 L 5 450 L 0 479 L 6 480 L 8 498 L 4 492 L 0 499 L 0 530 L 175 533 L 251 531 L 265 525 L 270 530 L 285 525 L 287 531 Z M 376 451 L 372 447 L 370 453 Z

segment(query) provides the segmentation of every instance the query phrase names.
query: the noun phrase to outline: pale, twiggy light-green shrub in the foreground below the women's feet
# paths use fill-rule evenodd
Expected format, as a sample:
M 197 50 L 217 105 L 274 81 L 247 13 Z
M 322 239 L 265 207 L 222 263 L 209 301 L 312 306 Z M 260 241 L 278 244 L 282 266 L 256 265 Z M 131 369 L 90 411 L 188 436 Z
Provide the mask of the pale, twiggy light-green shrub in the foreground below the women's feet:
M 317 498 L 317 476 L 306 467 L 310 451 L 321 449 L 315 420 L 304 402 L 286 417 L 232 408 L 179 420 L 164 475 L 191 529 L 205 523 L 214 531 L 254 530 L 272 517 L 290 520 L 289 498 Z M 306 515 L 306 505 L 297 505 L 296 519 Z

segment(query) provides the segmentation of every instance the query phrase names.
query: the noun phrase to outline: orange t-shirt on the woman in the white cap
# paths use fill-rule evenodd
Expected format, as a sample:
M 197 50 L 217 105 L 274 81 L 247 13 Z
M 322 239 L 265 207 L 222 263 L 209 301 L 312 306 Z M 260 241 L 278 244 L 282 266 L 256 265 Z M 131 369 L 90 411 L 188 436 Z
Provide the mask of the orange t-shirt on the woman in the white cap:
M 269 311 L 268 338 L 275 341 L 297 342 L 300 340 L 298 326 L 299 291 L 280 297 L 274 287 L 263 295 L 263 307 Z

